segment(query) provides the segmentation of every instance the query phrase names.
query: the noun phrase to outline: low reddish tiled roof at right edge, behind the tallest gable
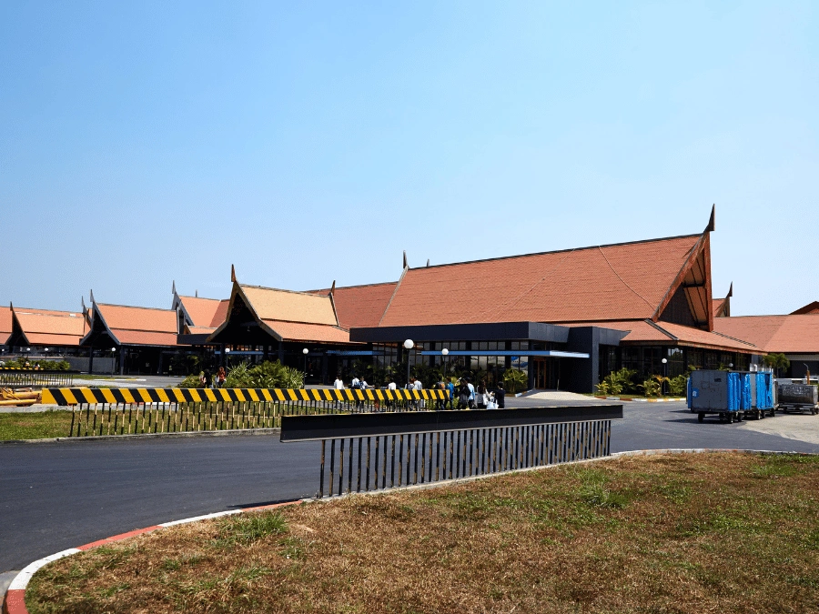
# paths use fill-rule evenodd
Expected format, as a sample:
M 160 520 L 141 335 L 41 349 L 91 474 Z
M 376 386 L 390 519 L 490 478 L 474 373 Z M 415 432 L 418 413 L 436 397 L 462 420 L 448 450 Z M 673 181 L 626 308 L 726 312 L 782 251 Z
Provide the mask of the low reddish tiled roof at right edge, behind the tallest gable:
M 720 317 L 714 329 L 764 352 L 819 354 L 819 314 Z

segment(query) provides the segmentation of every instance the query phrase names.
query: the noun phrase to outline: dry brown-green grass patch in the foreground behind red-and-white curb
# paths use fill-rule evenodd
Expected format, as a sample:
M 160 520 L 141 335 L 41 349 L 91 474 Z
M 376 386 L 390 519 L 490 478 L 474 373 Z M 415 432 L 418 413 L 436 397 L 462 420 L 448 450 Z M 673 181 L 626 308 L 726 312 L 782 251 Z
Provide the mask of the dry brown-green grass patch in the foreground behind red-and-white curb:
M 39 612 L 815 612 L 819 458 L 608 460 L 160 530 Z

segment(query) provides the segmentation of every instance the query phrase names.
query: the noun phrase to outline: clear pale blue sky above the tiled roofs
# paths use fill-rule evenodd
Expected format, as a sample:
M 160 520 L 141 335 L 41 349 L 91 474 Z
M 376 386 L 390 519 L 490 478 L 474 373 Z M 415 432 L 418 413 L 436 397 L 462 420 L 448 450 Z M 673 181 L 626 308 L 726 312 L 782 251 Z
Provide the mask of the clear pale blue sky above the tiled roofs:
M 819 5 L 237 5 L 0 5 L 0 304 L 372 283 L 713 203 L 733 315 L 819 299 Z

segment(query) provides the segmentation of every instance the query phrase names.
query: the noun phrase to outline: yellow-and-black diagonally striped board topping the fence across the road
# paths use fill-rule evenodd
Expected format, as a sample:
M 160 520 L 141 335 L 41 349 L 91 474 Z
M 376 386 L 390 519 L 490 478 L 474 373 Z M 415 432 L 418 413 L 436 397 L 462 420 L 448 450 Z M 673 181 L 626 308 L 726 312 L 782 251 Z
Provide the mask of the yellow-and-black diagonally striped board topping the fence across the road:
M 449 399 L 446 390 L 367 390 L 334 388 L 45 388 L 45 405 L 134 403 L 322 402 L 355 403 Z

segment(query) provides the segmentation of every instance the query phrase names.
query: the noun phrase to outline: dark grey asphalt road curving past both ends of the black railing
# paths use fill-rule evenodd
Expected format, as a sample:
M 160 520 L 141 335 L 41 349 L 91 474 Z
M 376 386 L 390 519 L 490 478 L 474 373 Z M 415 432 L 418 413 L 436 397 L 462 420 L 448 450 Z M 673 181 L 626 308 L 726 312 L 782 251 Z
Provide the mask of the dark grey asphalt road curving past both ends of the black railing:
M 682 403 L 625 403 L 624 416 L 612 426 L 612 451 L 819 452 L 738 424 L 698 424 Z M 134 528 L 310 497 L 318 471 L 319 443 L 278 436 L 0 445 L 0 572 Z

